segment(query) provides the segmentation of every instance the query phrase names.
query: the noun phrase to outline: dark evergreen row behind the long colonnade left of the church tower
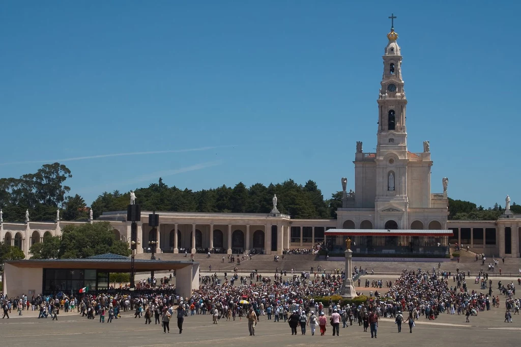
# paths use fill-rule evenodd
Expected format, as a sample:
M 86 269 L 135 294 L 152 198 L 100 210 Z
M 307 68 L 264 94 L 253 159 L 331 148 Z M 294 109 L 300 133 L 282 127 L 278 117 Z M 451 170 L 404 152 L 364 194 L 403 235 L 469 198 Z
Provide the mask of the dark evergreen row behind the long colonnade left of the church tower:
M 142 210 L 221 213 L 269 213 L 272 197 L 277 194 L 277 208 L 294 218 L 330 218 L 332 200 L 324 200 L 314 181 L 297 184 L 293 180 L 283 183 L 255 183 L 246 187 L 239 182 L 235 187 L 222 187 L 192 191 L 168 187 L 159 178 L 158 183 L 135 191 Z M 104 192 L 92 203 L 95 217 L 105 211 L 126 210 L 129 194 Z

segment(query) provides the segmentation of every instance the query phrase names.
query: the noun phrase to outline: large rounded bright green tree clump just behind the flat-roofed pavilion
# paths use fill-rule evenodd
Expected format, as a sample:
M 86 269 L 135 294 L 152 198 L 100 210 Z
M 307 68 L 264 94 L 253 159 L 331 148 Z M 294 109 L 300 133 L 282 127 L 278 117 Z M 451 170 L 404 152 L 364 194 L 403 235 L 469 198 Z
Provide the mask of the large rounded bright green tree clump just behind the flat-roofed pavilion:
M 61 231 L 61 237 L 47 236 L 33 244 L 31 259 L 86 258 L 104 253 L 129 256 L 131 252 L 128 243 L 116 240 L 109 222 L 68 225 Z

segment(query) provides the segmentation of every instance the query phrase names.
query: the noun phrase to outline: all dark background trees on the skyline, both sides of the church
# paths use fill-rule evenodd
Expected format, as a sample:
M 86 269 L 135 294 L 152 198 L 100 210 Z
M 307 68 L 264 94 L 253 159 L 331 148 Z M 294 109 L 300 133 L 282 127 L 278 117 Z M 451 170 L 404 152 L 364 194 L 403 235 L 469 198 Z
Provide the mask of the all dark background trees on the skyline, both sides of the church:
M 65 181 L 72 177 L 70 170 L 62 164 L 43 165 L 35 173 L 20 178 L 0 179 L 0 208 L 4 221 L 23 221 L 26 209 L 31 220 L 54 220 L 56 209 L 61 219 L 85 220 L 89 208 L 83 198 L 69 196 L 70 188 Z M 336 192 L 325 199 L 317 184 L 309 180 L 304 185 L 293 180 L 271 183 L 268 186 L 255 183 L 246 187 L 239 182 L 234 187 L 222 187 L 192 191 L 168 187 L 159 178 L 146 188 L 135 190 L 138 203 L 143 210 L 177 212 L 220 212 L 220 213 L 269 213 L 271 199 L 278 197 L 278 209 L 292 218 L 336 218 L 337 208 L 342 206 L 342 193 Z M 103 212 L 126 210 L 129 192 L 103 192 L 92 203 L 94 217 Z M 504 209 L 495 204 L 484 208 L 468 201 L 449 199 L 449 219 L 497 219 Z M 513 203 L 513 213 L 521 214 L 521 206 Z

